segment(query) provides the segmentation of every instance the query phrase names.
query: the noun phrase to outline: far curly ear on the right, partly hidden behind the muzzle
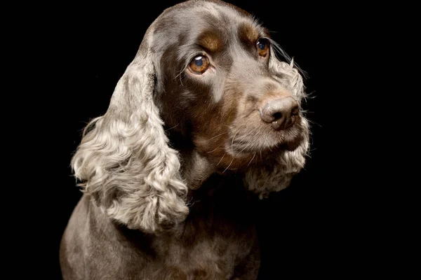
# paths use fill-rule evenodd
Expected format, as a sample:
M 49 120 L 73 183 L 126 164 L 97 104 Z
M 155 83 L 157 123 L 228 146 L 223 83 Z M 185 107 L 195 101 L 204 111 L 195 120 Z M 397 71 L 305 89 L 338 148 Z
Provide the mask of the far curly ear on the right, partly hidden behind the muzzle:
M 281 62 L 272 51 L 269 57 L 269 70 L 272 76 L 283 87 L 290 90 L 293 97 L 301 104 L 301 99 L 305 97 L 305 88 L 300 72 L 294 68 L 293 60 L 290 64 Z M 309 124 L 304 116 L 301 116 L 301 127 L 303 140 L 298 148 L 294 151 L 282 151 L 274 162 L 248 169 L 246 172 L 244 183 L 249 190 L 258 193 L 260 198 L 287 188 L 293 176 L 304 167 L 309 149 Z

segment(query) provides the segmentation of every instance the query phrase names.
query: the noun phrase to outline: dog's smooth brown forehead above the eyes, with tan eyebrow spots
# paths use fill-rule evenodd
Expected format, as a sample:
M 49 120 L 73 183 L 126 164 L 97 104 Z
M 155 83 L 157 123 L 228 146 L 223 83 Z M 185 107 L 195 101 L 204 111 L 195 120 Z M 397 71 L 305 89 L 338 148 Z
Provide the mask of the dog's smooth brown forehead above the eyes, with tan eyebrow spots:
M 210 50 L 224 45 L 229 38 L 255 41 L 268 36 L 244 10 L 220 1 L 187 1 L 165 10 L 151 26 L 154 47 L 199 43 Z M 165 40 L 161 40 L 165 38 Z

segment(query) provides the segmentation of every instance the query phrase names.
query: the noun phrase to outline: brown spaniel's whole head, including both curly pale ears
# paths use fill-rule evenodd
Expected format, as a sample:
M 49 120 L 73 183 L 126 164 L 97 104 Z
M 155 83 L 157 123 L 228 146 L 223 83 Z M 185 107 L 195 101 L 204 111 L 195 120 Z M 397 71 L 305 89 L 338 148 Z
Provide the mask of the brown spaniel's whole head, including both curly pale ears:
M 222 1 L 165 10 L 74 155 L 85 191 L 129 228 L 182 221 L 187 186 L 164 126 L 216 172 L 242 172 L 260 196 L 286 188 L 305 164 L 309 129 L 302 77 L 276 48 L 248 13 Z

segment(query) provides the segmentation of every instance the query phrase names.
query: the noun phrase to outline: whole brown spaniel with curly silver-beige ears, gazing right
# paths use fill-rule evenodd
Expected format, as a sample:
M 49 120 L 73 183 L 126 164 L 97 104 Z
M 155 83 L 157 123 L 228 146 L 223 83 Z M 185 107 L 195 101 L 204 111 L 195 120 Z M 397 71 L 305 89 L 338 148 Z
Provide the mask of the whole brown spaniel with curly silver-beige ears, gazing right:
M 73 155 L 63 279 L 257 279 L 256 204 L 309 150 L 302 75 L 279 50 L 223 1 L 156 18 Z

